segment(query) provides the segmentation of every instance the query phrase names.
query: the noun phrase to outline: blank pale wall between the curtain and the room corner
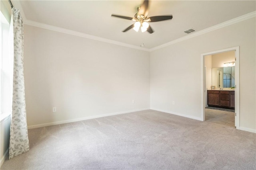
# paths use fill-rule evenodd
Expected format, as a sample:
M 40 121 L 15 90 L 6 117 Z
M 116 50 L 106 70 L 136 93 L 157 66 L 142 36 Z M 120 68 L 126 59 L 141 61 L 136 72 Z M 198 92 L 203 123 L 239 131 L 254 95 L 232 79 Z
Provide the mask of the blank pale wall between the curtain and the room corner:
M 25 25 L 28 126 L 149 109 L 149 60 L 147 51 Z

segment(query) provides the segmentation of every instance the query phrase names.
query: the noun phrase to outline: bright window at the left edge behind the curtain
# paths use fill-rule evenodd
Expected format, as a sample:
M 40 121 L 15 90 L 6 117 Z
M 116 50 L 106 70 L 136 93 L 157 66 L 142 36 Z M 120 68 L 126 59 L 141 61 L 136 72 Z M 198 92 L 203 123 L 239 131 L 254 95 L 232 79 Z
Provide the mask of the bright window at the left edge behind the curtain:
M 10 23 L 2 12 L 0 12 L 0 22 L 0 120 L 2 120 L 12 111 L 13 34 Z

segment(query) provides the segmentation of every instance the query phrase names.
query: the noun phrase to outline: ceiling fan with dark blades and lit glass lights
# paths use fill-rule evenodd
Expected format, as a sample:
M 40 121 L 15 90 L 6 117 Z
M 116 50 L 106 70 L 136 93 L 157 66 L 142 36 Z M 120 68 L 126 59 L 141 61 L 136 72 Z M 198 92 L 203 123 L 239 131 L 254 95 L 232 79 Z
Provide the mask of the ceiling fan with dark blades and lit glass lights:
M 124 29 L 122 32 L 126 32 L 129 29 L 133 28 L 137 32 L 138 32 L 139 29 L 141 29 L 142 32 L 148 31 L 149 33 L 153 33 L 154 31 L 150 27 L 148 22 L 171 20 L 172 15 L 148 17 L 148 5 L 149 5 L 149 0 L 144 0 L 142 5 L 137 8 L 138 13 L 136 13 L 134 15 L 134 18 L 126 17 L 126 16 L 119 16 L 119 15 L 115 15 L 115 14 L 112 14 L 111 16 L 118 17 L 118 18 L 123 18 L 123 19 L 126 19 L 126 20 L 136 21 L 134 24 L 130 25 L 129 27 Z

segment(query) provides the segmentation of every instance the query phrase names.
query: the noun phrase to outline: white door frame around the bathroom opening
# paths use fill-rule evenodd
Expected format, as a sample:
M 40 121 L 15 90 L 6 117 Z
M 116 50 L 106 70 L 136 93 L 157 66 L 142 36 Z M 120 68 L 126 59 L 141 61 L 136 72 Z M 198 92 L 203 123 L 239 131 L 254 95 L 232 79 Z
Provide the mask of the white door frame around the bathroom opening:
M 237 47 L 231 47 L 228 49 L 222 49 L 222 50 L 217 50 L 217 51 L 211 51 L 208 53 L 202 53 L 201 54 L 201 120 L 205 121 L 205 109 L 204 107 L 206 106 L 206 73 L 205 73 L 205 61 L 204 57 L 206 55 L 214 55 L 218 53 L 225 53 L 229 51 L 235 51 L 235 127 L 236 129 L 240 129 L 240 96 L 239 96 L 239 91 L 240 91 L 240 86 L 239 86 L 239 46 Z

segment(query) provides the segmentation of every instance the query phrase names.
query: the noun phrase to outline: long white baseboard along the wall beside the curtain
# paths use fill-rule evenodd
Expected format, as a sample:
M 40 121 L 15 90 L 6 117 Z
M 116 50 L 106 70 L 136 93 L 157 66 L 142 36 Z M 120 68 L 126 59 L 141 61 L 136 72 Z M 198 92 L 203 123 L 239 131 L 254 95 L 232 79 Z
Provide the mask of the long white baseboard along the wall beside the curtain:
M 129 110 L 129 111 L 120 111 L 120 112 L 108 113 L 108 114 L 103 114 L 103 115 L 82 117 L 82 118 L 78 118 L 78 119 L 70 119 L 70 120 L 64 120 L 64 121 L 43 123 L 43 124 L 39 124 L 39 125 L 30 125 L 30 126 L 28 126 L 28 129 L 34 129 L 34 128 L 38 128 L 38 127 L 46 127 L 46 126 L 52 126 L 52 125 L 59 125 L 59 124 L 63 124 L 63 123 L 71 123 L 71 122 L 75 122 L 75 121 L 95 119 L 95 118 L 99 118 L 99 117 L 106 117 L 106 116 L 112 116 L 112 115 L 120 115 L 120 114 L 124 114 L 124 113 L 130 113 L 130 112 L 134 112 L 134 111 L 142 111 L 142 110 L 148 110 L 148 109 L 150 109 L 150 108 L 135 109 L 135 110 Z

